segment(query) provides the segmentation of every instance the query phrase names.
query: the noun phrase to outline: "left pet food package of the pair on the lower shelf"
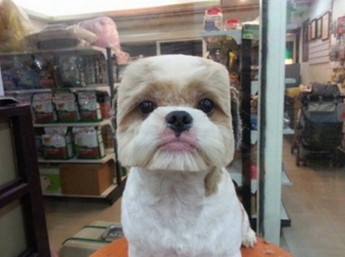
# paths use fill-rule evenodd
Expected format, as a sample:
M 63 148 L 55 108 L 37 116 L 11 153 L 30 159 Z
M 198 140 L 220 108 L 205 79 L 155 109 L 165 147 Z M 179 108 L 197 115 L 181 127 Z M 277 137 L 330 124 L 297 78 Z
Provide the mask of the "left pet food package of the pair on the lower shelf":
M 42 135 L 43 155 L 46 159 L 69 159 L 73 156 L 72 133 L 67 127 L 45 127 Z

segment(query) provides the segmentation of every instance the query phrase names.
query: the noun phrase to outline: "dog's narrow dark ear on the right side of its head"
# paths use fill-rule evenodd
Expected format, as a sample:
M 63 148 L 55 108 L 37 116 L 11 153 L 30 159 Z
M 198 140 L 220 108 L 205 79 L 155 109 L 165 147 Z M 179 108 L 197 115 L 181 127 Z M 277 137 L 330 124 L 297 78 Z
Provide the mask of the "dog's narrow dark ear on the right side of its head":
M 233 116 L 233 132 L 235 138 L 235 148 L 239 148 L 242 143 L 242 120 L 239 115 L 239 92 L 230 87 L 231 96 L 231 116 Z

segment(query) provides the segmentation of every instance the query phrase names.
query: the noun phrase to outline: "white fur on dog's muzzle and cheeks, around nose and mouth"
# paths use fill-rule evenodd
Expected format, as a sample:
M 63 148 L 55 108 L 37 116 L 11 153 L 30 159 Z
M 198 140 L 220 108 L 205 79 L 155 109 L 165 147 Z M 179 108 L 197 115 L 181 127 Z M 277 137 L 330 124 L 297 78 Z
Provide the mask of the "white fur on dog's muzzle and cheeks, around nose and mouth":
M 157 150 L 160 143 L 159 133 L 166 128 L 165 117 L 174 110 L 184 110 L 193 116 L 193 127 L 190 132 L 196 134 L 196 147 L 209 161 L 201 158 L 197 151 L 172 154 Z M 119 159 L 121 163 L 131 167 L 145 166 L 148 169 L 196 172 L 205 170 L 210 165 L 222 167 L 231 161 L 228 155 L 224 154 L 224 141 L 219 127 L 213 124 L 204 112 L 190 107 L 158 107 L 141 123 L 135 138 L 129 139 L 119 134 Z M 230 154 L 233 155 L 233 152 L 230 151 Z

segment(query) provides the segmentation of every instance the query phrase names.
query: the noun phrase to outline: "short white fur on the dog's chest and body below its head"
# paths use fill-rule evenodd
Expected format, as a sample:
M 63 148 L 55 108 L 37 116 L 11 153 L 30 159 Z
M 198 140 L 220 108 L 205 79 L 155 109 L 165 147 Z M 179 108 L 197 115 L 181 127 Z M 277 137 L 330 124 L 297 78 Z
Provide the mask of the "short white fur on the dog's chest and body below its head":
M 244 217 L 230 176 L 223 169 L 209 197 L 205 176 L 132 168 L 122 200 L 130 256 L 241 256 Z

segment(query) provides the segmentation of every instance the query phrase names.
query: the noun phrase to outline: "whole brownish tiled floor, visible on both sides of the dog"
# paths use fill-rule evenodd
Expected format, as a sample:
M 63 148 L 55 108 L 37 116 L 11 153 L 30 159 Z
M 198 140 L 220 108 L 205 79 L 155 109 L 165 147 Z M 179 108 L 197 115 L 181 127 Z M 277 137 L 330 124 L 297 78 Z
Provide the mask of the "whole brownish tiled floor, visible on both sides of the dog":
M 284 166 L 293 186 L 283 186 L 282 198 L 292 220 L 282 231 L 282 246 L 296 257 L 345 256 L 345 168 L 317 162 L 296 167 L 290 144 L 284 141 Z M 119 222 L 121 201 L 104 203 L 46 201 L 52 249 L 95 220 Z M 78 256 L 76 256 L 78 257 Z

